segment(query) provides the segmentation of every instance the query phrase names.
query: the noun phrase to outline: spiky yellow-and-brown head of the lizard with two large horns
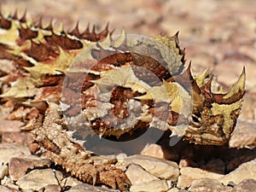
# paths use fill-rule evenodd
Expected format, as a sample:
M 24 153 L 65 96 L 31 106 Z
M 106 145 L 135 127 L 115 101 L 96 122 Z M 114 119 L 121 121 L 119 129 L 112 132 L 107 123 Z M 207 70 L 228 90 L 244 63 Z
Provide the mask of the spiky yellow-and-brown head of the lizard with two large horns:
M 172 134 L 182 136 L 190 143 L 223 145 L 228 143 L 241 111 L 245 94 L 245 69 L 236 84 L 228 92 L 211 90 L 212 78 L 206 81 L 207 73 L 192 78 L 192 108 L 187 126 L 173 126 Z

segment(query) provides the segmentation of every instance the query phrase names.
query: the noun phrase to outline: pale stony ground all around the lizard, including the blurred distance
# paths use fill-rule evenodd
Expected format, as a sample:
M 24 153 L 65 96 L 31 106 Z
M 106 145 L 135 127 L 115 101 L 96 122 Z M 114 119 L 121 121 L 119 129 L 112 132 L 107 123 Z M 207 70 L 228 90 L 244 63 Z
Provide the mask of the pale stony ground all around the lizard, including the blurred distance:
M 35 20 L 42 15 L 45 23 L 55 18 L 56 26 L 63 22 L 67 30 L 79 20 L 81 31 L 88 22 L 100 30 L 108 21 L 114 34 L 123 27 L 127 33 L 146 36 L 179 31 L 193 72 L 212 68 L 224 88 L 246 67 L 247 94 L 229 146 L 201 147 L 182 141 L 170 146 L 164 138 L 143 148 L 131 146 L 137 150 L 129 151 L 129 156 L 95 156 L 97 163 L 113 163 L 125 170 L 134 192 L 256 191 L 255 7 L 253 0 L 2 1 L 3 13 L 18 9 L 22 15 L 26 9 Z M 32 137 L 20 131 L 19 122 L 0 113 L 0 191 L 113 191 L 81 183 L 48 159 L 32 154 L 28 145 Z

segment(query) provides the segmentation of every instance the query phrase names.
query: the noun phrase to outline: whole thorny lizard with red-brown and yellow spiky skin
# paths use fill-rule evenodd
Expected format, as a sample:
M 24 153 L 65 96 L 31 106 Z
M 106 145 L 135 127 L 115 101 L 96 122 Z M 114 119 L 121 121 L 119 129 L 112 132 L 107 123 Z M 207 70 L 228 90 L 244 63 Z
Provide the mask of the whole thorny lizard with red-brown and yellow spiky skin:
M 13 106 L 9 119 L 21 120 L 55 164 L 86 183 L 131 185 L 120 169 L 95 165 L 74 132 L 119 138 L 153 127 L 195 144 L 230 139 L 245 70 L 228 92 L 213 93 L 211 73 L 184 69 L 177 34 L 116 38 L 108 26 L 97 33 L 78 25 L 65 32 L 17 14 L 0 14 L 0 28 L 1 103 Z

